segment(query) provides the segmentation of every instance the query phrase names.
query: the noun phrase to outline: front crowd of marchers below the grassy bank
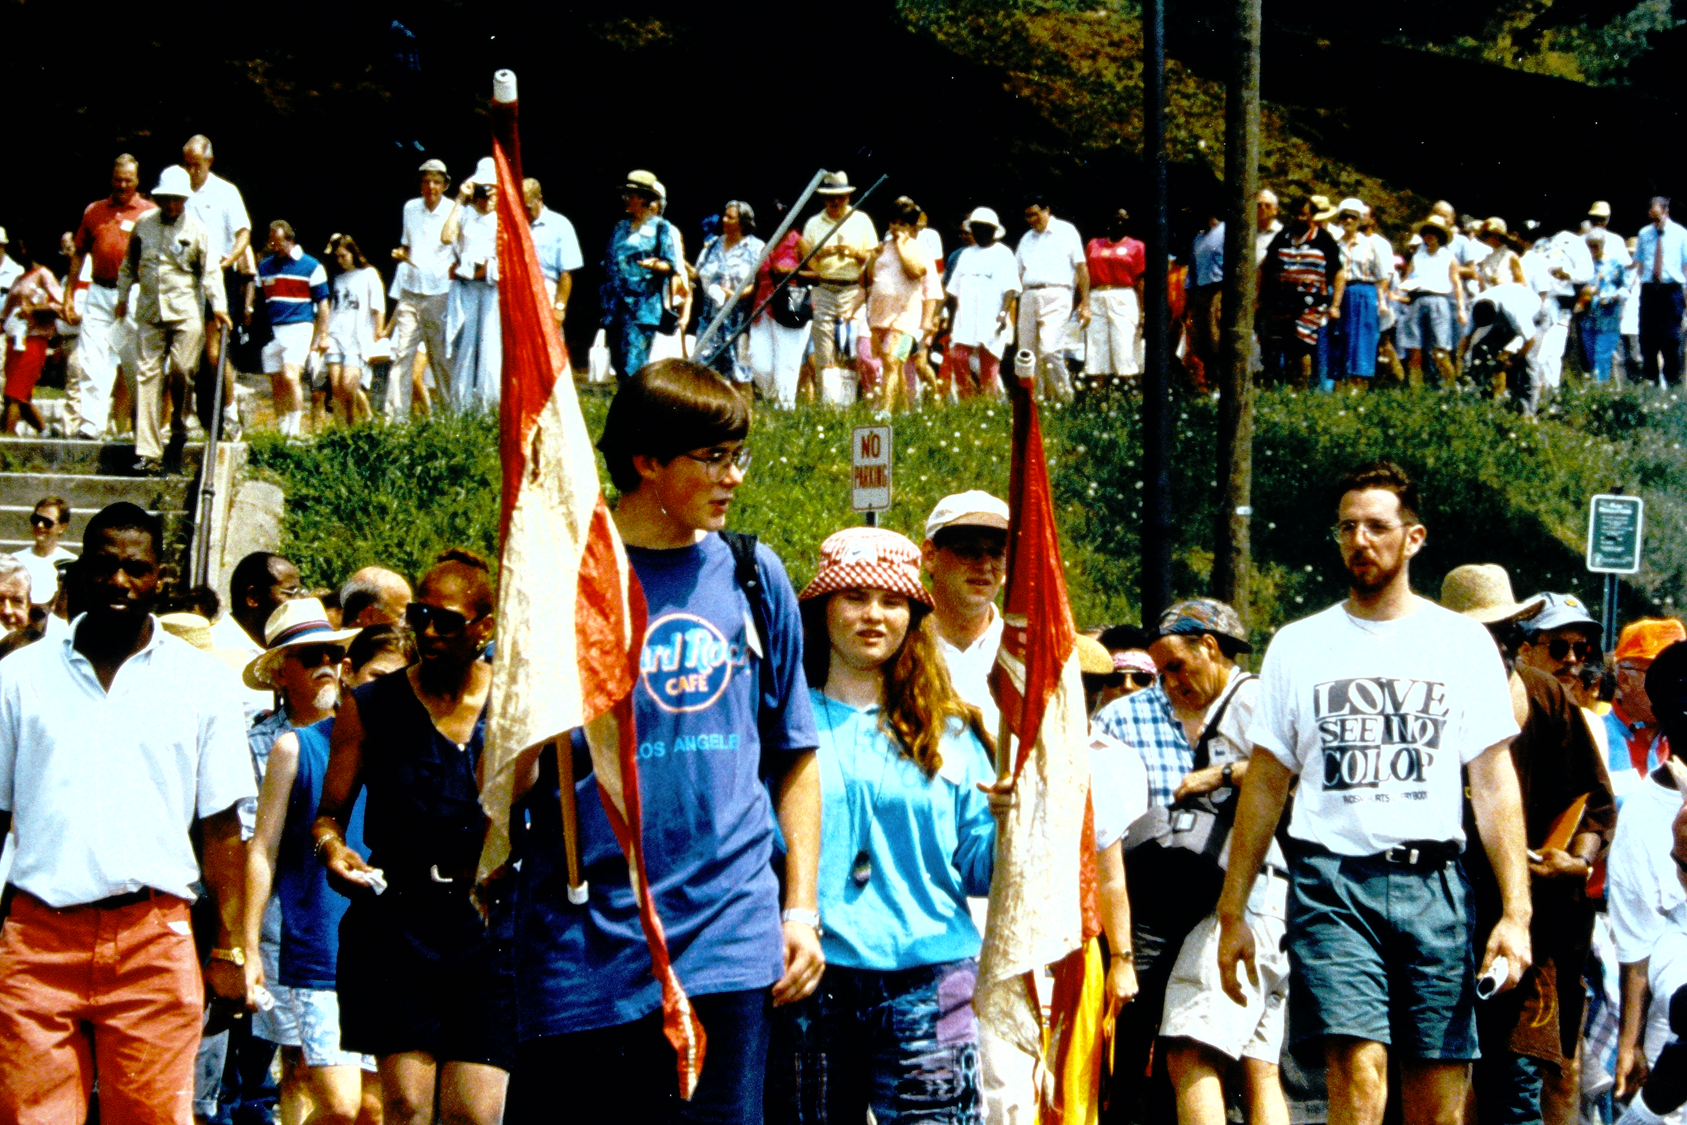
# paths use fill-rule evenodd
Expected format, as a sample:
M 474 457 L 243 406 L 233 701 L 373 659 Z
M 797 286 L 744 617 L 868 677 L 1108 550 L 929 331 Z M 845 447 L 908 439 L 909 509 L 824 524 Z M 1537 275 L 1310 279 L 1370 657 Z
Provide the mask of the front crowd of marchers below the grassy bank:
M 670 358 L 599 435 L 648 604 L 643 862 L 707 1032 L 690 1101 L 584 732 L 518 759 L 511 862 L 477 874 L 484 560 L 310 590 L 255 553 L 221 612 L 148 513 L 105 508 L 61 560 L 46 499 L 0 565 L 0 1118 L 1038 1120 L 1031 1059 L 972 1009 L 1019 799 L 989 686 L 1009 508 L 951 494 L 921 543 L 840 528 L 798 592 L 725 530 L 751 423 L 729 374 Z M 1078 639 L 1103 1120 L 1240 1100 L 1284 1125 L 1291 1041 L 1321 1047 L 1334 1125 L 1382 1120 L 1390 1064 L 1409 1122 L 1608 1125 L 1613 1095 L 1668 1120 L 1687 629 L 1606 638 L 1483 563 L 1427 600 L 1417 484 L 1363 466 L 1331 504 L 1350 594 L 1259 675 L 1208 597 Z

